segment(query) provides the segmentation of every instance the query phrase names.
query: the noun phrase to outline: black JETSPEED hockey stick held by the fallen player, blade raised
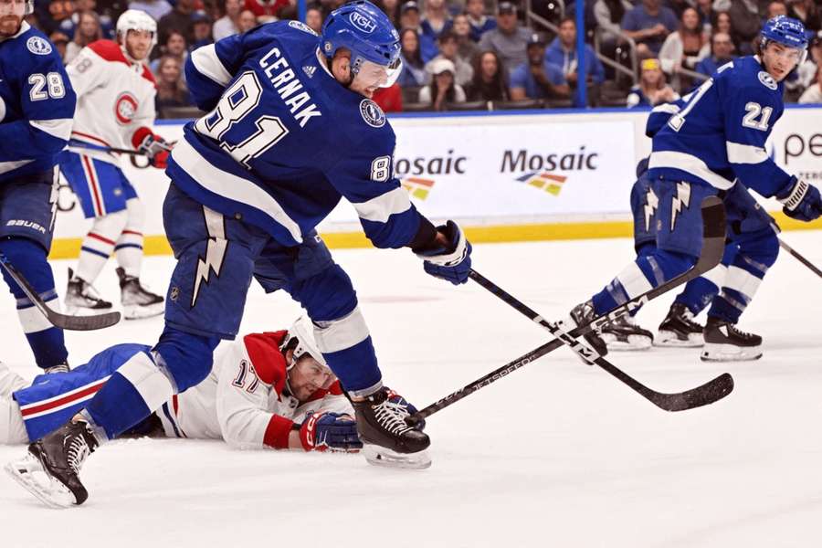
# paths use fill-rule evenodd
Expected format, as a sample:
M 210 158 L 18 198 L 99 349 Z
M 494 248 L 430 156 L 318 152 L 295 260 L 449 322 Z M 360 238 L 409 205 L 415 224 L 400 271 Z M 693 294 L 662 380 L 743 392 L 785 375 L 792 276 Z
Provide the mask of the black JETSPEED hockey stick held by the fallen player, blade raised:
M 642 306 L 648 302 L 648 300 L 656 299 L 659 295 L 672 290 L 681 284 L 687 283 L 691 279 L 699 278 L 702 274 L 718 265 L 722 260 L 722 254 L 725 249 L 725 211 L 722 206 L 722 200 L 719 198 L 706 198 L 702 201 L 701 213 L 703 234 L 702 250 L 700 258 L 697 260 L 696 265 L 694 265 L 692 269 L 684 272 L 676 278 L 669 279 L 669 281 L 661 284 L 657 288 L 639 295 L 636 299 L 627 301 L 625 304 L 617 307 L 613 311 L 609 311 L 607 314 L 599 316 L 594 321 L 575 328 L 573 331 L 569 332 L 568 335 L 572 338 L 581 337 L 585 335 L 585 333 L 602 327 L 609 321 L 614 321 L 620 316 L 627 314 L 627 312 Z M 532 363 L 534 360 L 541 358 L 543 355 L 553 352 L 562 345 L 563 342 L 557 339 L 546 342 L 542 346 L 532 350 L 530 353 L 520 356 L 516 360 L 480 377 L 473 383 L 465 385 L 456 392 L 437 400 L 430 406 L 417 411 L 414 415 L 409 416 L 407 420 L 411 424 L 417 424 L 428 416 L 434 415 L 437 411 L 441 411 L 448 406 L 454 405 L 462 398 L 473 394 L 480 388 L 500 380 L 502 377 L 513 373 L 527 364 Z M 728 375 L 728 380 L 732 382 L 730 375 Z

